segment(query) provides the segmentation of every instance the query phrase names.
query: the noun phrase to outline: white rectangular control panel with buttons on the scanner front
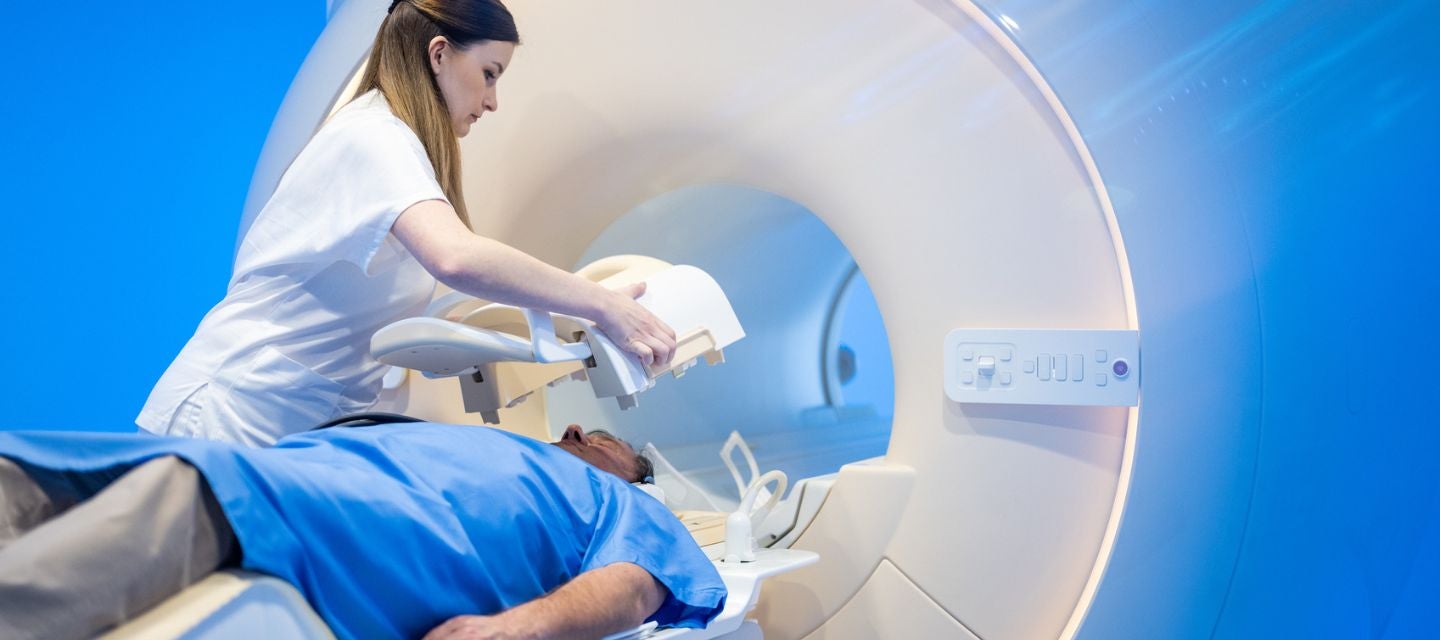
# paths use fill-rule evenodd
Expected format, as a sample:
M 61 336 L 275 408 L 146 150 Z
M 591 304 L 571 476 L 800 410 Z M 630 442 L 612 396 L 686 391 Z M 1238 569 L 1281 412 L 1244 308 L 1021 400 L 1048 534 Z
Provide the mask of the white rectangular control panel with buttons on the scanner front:
M 945 395 L 955 402 L 1135 406 L 1140 332 L 956 329 L 945 336 Z

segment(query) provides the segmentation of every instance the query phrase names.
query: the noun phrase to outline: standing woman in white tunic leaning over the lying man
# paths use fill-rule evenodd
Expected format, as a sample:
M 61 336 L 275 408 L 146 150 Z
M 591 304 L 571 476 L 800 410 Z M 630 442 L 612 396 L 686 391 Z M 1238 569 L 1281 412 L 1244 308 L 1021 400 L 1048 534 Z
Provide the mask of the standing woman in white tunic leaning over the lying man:
M 590 319 L 645 363 L 674 332 L 635 297 L 469 229 L 456 138 L 495 111 L 520 36 L 497 0 L 396 0 L 357 95 L 310 140 L 240 242 L 225 300 L 156 383 L 145 431 L 268 445 L 374 404 L 380 327 L 435 281 Z

